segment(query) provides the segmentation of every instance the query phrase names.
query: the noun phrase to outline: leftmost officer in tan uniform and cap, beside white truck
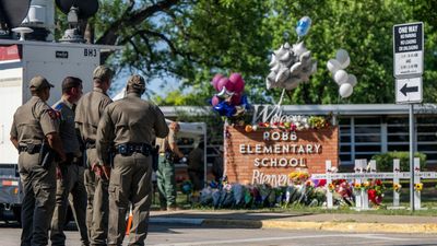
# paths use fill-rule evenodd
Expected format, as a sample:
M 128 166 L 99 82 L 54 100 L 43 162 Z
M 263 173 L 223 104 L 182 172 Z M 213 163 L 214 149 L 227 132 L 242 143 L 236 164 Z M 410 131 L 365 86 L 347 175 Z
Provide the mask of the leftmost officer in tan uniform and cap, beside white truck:
M 22 246 L 47 245 L 55 208 L 56 163 L 66 161 L 58 134 L 59 116 L 47 105 L 54 87 L 37 75 L 29 82 L 32 97 L 13 116 L 11 141 L 20 152 L 19 172 L 23 185 Z

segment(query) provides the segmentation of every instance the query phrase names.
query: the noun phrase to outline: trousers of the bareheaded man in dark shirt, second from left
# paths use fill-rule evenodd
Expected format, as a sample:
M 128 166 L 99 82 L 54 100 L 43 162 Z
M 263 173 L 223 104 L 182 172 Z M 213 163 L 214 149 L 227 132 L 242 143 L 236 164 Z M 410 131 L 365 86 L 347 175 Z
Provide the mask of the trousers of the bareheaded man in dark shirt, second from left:
M 57 180 L 56 207 L 51 219 L 50 241 L 52 246 L 66 245 L 63 226 L 67 220 L 67 210 L 70 196 L 70 204 L 75 223 L 81 235 L 82 245 L 90 245 L 86 229 L 86 190 L 84 185 L 84 168 L 76 164 L 61 164 L 59 166 L 62 178 Z

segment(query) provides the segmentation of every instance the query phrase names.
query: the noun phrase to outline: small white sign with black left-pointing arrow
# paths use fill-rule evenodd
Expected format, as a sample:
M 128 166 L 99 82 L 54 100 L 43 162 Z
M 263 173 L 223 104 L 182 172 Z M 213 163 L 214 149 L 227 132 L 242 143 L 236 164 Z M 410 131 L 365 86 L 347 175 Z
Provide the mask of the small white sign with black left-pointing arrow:
M 422 103 L 422 77 L 397 79 L 395 97 L 398 104 Z

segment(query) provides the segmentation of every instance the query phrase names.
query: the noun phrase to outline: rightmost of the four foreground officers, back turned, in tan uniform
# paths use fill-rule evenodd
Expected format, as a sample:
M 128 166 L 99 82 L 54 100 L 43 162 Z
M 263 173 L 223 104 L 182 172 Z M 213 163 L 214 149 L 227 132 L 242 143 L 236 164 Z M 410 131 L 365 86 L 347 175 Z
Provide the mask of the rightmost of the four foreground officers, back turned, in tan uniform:
M 97 129 L 98 156 L 106 166 L 113 163 L 108 245 L 122 244 L 129 202 L 133 209 L 129 245 L 144 245 L 152 202 L 151 143 L 155 136 L 167 136 L 168 127 L 160 108 L 141 99 L 145 91 L 142 77 L 130 77 L 126 91 L 125 98 L 105 109 Z

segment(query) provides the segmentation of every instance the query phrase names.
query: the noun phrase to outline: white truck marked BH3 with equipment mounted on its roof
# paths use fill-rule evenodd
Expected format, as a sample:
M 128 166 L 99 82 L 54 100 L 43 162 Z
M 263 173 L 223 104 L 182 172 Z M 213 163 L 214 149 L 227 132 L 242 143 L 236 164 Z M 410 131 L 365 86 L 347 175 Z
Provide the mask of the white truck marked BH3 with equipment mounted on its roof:
M 63 43 L 54 42 L 55 2 L 68 16 L 70 28 L 61 38 Z M 52 105 L 61 96 L 66 77 L 80 78 L 83 91 L 91 91 L 101 52 L 118 49 L 82 44 L 79 20 L 94 15 L 97 9 L 97 0 L 0 0 L 0 219 L 13 211 L 20 222 L 23 192 L 19 153 L 10 141 L 10 131 L 16 108 L 31 98 L 28 81 L 43 75 L 55 84 L 48 101 Z M 25 34 L 31 40 L 25 40 Z

